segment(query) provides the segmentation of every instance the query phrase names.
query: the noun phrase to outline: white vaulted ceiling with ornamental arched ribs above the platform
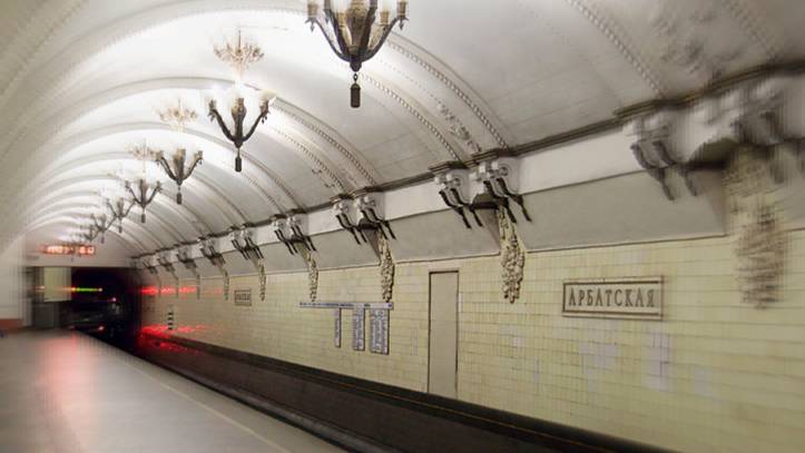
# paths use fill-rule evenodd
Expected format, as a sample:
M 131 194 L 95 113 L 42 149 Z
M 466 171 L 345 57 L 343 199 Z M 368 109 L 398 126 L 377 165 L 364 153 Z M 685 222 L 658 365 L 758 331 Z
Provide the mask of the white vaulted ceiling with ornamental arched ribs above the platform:
M 99 186 L 116 181 L 110 175 L 137 168 L 128 146 L 147 139 L 169 151 L 179 139 L 155 110 L 178 97 L 198 102 L 200 91 L 232 83 L 214 43 L 242 29 L 264 50 L 245 81 L 278 99 L 244 147 L 244 173 L 234 173 L 232 146 L 197 104 L 185 139 L 204 150 L 205 163 L 183 186 L 184 206 L 163 178 L 145 226 L 132 210 L 137 221 L 126 221 L 122 237 L 135 249 L 190 242 L 467 159 L 477 149 L 457 140 L 454 127 L 484 150 L 518 147 L 687 93 L 713 72 L 805 53 L 797 39 L 805 4 L 796 1 L 412 0 L 405 29 L 364 66 L 364 102 L 353 110 L 351 72 L 304 24 L 304 0 L 7 3 L 4 233 L 55 235 L 97 206 Z M 690 29 L 690 18 L 706 26 Z M 691 33 L 717 67 L 662 58 Z

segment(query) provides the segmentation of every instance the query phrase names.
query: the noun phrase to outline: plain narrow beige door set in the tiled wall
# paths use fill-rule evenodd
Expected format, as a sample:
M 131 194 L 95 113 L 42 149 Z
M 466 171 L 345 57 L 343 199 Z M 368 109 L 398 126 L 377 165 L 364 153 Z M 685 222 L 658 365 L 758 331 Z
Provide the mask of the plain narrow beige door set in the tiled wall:
M 455 397 L 459 346 L 459 273 L 431 274 L 428 391 Z

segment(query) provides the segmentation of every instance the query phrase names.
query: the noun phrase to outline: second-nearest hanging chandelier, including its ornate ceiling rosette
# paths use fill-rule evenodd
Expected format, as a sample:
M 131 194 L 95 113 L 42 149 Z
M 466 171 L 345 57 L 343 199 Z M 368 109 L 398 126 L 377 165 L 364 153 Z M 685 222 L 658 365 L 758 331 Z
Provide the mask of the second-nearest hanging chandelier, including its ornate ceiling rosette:
M 227 41 L 224 47 L 216 46 L 215 55 L 232 67 L 235 75 L 235 85 L 229 89 L 226 99 L 220 99 L 219 97 L 216 99 L 214 96 L 207 97 L 207 116 L 210 121 L 218 124 L 227 140 L 235 145 L 237 149 L 235 171 L 240 171 L 243 169 L 243 161 L 240 159 L 243 144 L 252 138 L 252 135 L 254 135 L 257 129 L 257 125 L 265 122 L 266 118 L 268 118 L 268 108 L 274 104 L 276 95 L 269 90 L 257 92 L 257 90 L 244 86 L 243 75 L 246 68 L 263 58 L 263 50 L 252 42 L 245 42 L 240 36 L 240 31 L 237 32 L 237 42 L 232 43 Z M 254 122 L 252 122 L 252 126 L 248 127 L 248 130 L 246 130 L 244 122 L 246 121 L 246 115 L 248 112 L 247 105 L 253 104 L 255 98 L 258 99 L 256 107 L 259 109 L 259 114 L 254 119 Z M 227 107 L 232 114 L 232 125 L 227 125 L 227 121 L 218 111 L 219 101 L 227 102 Z M 255 106 L 252 106 L 252 108 L 254 107 Z

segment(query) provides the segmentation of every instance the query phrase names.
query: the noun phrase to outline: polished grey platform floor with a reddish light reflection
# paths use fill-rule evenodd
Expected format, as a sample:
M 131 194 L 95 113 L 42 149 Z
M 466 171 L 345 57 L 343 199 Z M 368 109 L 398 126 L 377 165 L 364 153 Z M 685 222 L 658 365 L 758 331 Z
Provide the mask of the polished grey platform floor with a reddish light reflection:
M 0 338 L 0 452 L 335 451 L 91 337 Z

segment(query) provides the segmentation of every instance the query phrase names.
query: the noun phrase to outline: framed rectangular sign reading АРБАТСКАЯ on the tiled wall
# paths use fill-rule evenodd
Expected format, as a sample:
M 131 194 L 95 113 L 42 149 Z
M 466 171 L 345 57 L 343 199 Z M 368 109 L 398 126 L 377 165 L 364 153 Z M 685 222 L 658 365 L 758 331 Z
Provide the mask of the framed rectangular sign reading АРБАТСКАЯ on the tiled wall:
M 661 319 L 662 278 L 567 280 L 562 315 Z

